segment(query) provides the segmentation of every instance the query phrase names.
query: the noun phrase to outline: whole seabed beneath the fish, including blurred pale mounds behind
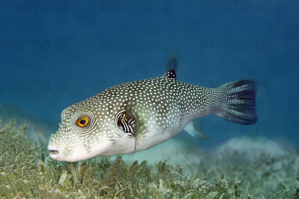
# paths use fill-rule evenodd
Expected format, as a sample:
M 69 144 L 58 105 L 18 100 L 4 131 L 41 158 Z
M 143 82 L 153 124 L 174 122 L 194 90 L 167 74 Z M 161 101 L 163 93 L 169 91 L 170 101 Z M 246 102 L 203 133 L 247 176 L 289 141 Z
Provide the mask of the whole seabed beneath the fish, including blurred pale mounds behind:
M 299 199 L 298 149 L 266 138 L 234 138 L 212 152 L 171 139 L 161 159 L 167 142 L 63 163 L 48 158 L 36 133 L 32 140 L 13 121 L 0 126 L 0 199 Z

